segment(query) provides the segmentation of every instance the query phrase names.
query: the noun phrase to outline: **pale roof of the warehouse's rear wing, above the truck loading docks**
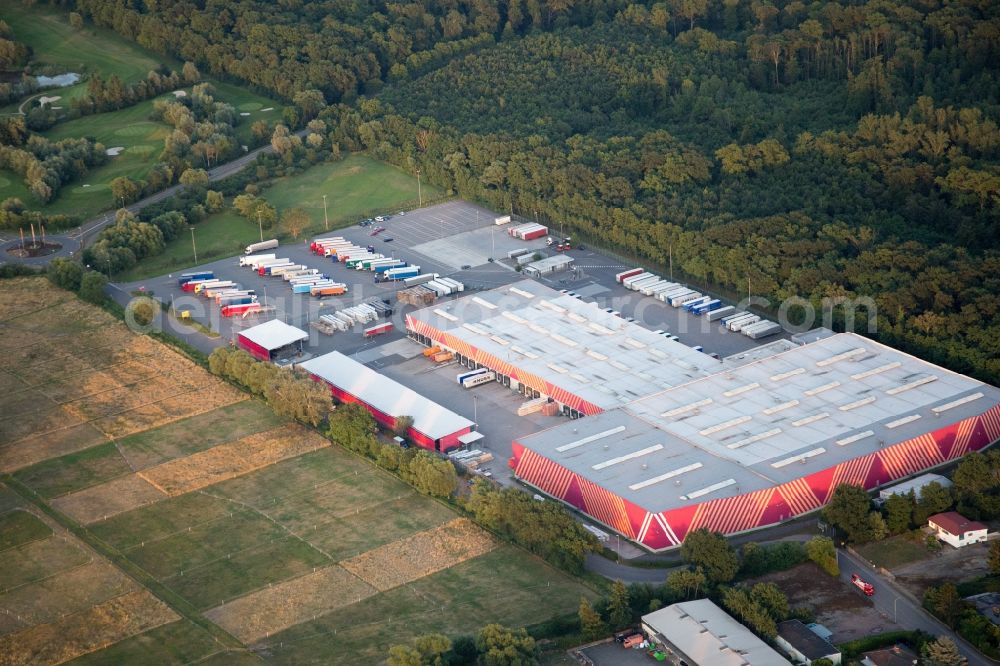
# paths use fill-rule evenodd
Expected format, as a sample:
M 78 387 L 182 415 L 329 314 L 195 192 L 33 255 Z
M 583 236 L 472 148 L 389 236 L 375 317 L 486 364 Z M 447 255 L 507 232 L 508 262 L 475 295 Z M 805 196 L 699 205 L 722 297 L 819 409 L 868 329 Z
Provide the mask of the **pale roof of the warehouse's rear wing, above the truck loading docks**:
M 532 280 L 411 315 L 611 409 L 718 371 L 710 356 Z

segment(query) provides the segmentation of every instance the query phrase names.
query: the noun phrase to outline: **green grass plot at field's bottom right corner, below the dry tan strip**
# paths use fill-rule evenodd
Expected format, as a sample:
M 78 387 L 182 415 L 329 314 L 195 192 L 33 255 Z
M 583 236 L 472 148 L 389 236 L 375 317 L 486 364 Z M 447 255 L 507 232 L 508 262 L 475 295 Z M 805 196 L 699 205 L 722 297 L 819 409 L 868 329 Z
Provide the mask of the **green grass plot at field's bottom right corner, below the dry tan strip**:
M 373 664 L 425 633 L 473 634 L 491 622 L 524 626 L 573 613 L 594 594 L 512 546 L 305 622 L 265 641 L 269 661 Z

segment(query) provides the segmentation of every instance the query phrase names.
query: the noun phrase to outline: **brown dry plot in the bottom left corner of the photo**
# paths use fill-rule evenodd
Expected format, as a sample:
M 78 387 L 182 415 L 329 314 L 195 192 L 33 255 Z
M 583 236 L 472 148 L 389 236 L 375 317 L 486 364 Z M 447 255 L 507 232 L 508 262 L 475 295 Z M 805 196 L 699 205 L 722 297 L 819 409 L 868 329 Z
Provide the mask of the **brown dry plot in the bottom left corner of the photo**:
M 0 664 L 59 664 L 178 619 L 145 590 L 0 637 Z

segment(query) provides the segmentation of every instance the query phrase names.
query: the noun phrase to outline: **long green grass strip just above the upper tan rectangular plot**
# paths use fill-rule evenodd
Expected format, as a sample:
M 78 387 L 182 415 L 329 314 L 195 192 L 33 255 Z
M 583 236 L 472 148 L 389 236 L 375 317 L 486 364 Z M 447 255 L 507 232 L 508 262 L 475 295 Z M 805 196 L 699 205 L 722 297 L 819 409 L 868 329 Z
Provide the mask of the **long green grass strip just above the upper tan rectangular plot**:
M 258 400 L 245 400 L 188 419 L 168 423 L 60 458 L 18 470 L 15 477 L 46 499 L 76 492 L 191 455 L 226 441 L 275 428 L 282 423 Z M 198 433 L 192 437 L 192 433 Z M 126 461 L 122 453 L 128 457 Z

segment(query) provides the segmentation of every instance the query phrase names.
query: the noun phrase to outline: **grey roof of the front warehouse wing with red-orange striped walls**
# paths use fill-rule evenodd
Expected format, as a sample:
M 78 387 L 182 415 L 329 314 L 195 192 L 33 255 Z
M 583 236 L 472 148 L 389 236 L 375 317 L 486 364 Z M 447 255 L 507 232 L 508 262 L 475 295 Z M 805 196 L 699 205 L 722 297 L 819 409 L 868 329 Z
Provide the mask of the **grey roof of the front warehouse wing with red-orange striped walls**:
M 997 404 L 992 386 L 841 333 L 518 441 L 664 511 L 792 481 Z

